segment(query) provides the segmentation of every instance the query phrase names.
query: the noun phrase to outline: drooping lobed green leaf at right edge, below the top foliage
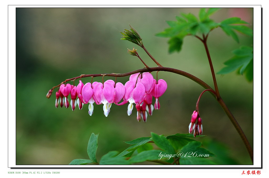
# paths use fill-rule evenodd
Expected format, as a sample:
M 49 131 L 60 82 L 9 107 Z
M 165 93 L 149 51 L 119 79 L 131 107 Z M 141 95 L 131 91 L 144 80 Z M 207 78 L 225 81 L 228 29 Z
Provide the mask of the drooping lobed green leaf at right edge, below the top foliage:
M 239 49 L 232 51 L 235 54 L 231 59 L 224 62 L 226 67 L 222 68 L 218 74 L 226 74 L 240 69 L 239 73 L 243 75 L 246 71 L 247 66 L 253 66 L 253 48 L 249 46 L 241 46 Z M 252 63 L 252 64 L 251 64 Z M 253 67 L 249 68 L 247 73 L 247 80 L 252 81 L 253 79 Z M 249 73 L 251 72 L 251 73 Z

